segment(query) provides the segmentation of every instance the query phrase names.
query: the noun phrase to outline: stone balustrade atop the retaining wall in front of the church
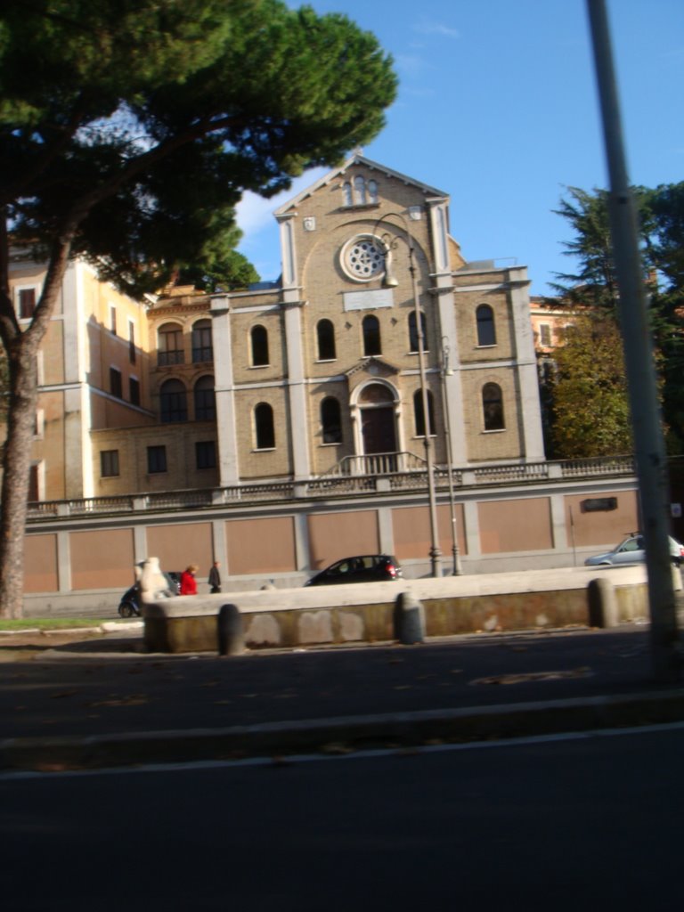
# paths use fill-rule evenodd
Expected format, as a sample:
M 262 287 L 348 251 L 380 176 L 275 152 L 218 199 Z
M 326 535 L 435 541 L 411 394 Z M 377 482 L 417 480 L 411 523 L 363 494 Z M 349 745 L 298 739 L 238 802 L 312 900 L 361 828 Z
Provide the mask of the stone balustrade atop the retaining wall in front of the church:
M 633 476 L 632 456 L 563 462 L 501 463 L 451 471 L 456 490 L 487 488 L 503 484 L 535 484 L 579 478 Z M 447 466 L 434 469 L 435 485 L 445 492 L 449 487 Z M 348 456 L 334 469 L 302 482 L 250 482 L 224 488 L 191 491 L 121 494 L 64 501 L 39 501 L 28 504 L 29 522 L 54 520 L 59 516 L 84 514 L 170 512 L 207 510 L 224 504 L 287 503 L 316 498 L 368 496 L 369 494 L 427 491 L 426 463 L 415 453 L 378 453 Z

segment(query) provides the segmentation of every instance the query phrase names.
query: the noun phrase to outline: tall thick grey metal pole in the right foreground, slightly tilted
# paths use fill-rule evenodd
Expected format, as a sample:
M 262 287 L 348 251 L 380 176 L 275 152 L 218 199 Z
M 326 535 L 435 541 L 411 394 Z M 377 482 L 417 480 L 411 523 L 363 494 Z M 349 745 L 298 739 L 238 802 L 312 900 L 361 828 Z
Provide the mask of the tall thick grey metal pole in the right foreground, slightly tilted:
M 668 543 L 667 461 L 638 246 L 637 214 L 627 178 L 606 4 L 604 0 L 587 0 L 587 8 L 610 176 L 611 235 L 646 545 L 651 667 L 654 678 L 665 683 L 679 679 L 681 670 Z

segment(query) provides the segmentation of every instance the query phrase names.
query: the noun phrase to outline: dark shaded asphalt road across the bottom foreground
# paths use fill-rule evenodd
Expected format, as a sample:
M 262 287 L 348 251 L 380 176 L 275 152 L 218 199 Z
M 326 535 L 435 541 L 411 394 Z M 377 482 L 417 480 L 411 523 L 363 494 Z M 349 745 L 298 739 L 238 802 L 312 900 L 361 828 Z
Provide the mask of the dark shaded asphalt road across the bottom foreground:
M 0 776 L 3 903 L 681 905 L 681 725 L 329 760 Z

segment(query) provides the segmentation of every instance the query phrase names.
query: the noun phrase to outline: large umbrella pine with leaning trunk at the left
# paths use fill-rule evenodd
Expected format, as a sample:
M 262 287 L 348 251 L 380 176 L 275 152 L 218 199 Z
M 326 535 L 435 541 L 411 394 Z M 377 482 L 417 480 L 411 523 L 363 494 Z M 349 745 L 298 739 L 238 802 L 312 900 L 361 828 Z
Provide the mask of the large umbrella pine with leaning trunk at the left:
M 368 142 L 396 86 L 375 36 L 282 0 L 5 0 L 2 613 L 21 611 L 36 353 L 69 258 L 138 297 L 179 269 L 235 265 L 242 193 L 279 192 Z M 26 328 L 9 295 L 10 244 L 47 263 Z

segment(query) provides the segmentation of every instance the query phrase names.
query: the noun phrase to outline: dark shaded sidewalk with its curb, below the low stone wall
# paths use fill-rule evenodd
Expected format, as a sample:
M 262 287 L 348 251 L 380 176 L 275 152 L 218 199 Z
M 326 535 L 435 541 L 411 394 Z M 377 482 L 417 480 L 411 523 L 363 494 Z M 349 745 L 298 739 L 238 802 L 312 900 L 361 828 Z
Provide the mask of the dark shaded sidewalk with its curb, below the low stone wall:
M 684 720 L 684 681 L 650 679 L 645 626 L 232 658 L 144 655 L 140 628 L 81 636 L 39 650 L 0 641 L 0 769 L 409 748 Z

